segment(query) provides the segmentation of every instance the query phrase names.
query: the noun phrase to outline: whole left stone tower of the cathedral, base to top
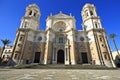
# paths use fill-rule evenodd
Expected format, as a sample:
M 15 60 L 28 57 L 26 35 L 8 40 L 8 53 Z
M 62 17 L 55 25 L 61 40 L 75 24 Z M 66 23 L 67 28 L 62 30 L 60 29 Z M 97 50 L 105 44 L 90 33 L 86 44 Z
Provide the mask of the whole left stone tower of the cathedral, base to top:
M 31 32 L 39 29 L 39 18 L 41 14 L 36 4 L 31 4 L 26 8 L 25 16 L 21 19 L 20 28 L 17 30 L 14 41 L 12 59 L 17 63 L 23 63 L 23 55 L 25 54 L 28 41 L 34 41 L 35 33 Z M 29 36 L 29 34 L 32 33 Z M 30 46 L 30 45 L 29 45 Z

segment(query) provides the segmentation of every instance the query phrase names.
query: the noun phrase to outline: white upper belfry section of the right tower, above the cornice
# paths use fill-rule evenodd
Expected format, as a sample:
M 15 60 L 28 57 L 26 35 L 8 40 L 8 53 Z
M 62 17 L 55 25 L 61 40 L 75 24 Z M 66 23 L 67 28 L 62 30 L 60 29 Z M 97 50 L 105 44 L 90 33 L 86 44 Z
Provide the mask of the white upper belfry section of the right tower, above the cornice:
M 99 16 L 97 16 L 96 7 L 93 4 L 86 4 L 83 7 L 81 15 L 83 20 L 82 26 L 84 30 L 102 28 L 101 19 Z

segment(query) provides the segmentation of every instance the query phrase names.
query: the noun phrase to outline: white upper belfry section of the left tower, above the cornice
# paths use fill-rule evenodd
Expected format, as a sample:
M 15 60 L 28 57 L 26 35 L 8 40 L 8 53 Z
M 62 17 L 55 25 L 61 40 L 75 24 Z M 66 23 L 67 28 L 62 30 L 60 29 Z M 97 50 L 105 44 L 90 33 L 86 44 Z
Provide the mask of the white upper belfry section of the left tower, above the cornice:
M 20 28 L 30 28 L 33 30 L 39 29 L 39 19 L 41 13 L 36 4 L 31 4 L 26 8 L 25 16 L 21 20 Z

